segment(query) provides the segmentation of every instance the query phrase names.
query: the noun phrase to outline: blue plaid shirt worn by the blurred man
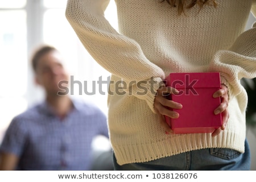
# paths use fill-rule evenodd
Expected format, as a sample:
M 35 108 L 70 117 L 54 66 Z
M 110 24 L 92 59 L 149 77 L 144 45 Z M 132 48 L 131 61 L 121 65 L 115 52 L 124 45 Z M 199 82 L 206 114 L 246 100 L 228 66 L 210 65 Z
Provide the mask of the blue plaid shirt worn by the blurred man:
M 19 156 L 18 170 L 89 170 L 93 137 L 108 137 L 106 116 L 84 102 L 73 105 L 62 120 L 47 102 L 16 116 L 0 151 Z

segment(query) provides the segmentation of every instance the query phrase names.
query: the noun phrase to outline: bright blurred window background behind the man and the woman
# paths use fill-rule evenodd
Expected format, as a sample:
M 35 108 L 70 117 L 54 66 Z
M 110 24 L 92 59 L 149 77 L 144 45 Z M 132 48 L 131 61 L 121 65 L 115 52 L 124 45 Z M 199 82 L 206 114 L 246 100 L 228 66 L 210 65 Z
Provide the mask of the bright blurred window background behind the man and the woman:
M 108 112 L 107 85 L 102 85 L 105 94 L 99 93 L 97 81 L 100 77 L 106 81 L 110 73 L 80 43 L 65 18 L 66 3 L 67 0 L 0 0 L 0 143 L 11 119 L 43 99 L 43 90 L 35 84 L 30 65 L 32 52 L 42 43 L 60 50 L 74 80 L 86 84 L 88 92 L 93 92 L 93 81 L 96 81 L 96 94 L 79 94 L 79 85 L 75 85 L 73 97 L 94 102 L 105 114 Z M 110 0 L 105 16 L 118 31 L 115 11 L 114 0 Z M 250 15 L 246 29 L 253 22 L 255 18 Z M 251 169 L 256 170 L 256 129 L 248 127 Z M 94 147 L 104 150 L 109 145 L 98 138 Z

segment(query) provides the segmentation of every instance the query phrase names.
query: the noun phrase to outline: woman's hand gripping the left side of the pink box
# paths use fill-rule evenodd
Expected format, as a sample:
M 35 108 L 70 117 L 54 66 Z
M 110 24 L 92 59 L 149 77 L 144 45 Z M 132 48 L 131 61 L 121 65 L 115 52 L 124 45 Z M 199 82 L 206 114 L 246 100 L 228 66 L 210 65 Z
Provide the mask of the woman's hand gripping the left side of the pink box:
M 154 109 L 156 114 L 158 114 L 158 120 L 160 124 L 164 127 L 166 133 L 172 133 L 171 127 L 167 124 L 165 115 L 170 118 L 179 118 L 179 113 L 176 111 L 172 111 L 171 109 L 181 109 L 182 105 L 180 103 L 174 102 L 172 100 L 168 100 L 166 96 L 169 94 L 178 94 L 179 91 L 170 86 L 162 86 L 158 89 L 155 102 Z

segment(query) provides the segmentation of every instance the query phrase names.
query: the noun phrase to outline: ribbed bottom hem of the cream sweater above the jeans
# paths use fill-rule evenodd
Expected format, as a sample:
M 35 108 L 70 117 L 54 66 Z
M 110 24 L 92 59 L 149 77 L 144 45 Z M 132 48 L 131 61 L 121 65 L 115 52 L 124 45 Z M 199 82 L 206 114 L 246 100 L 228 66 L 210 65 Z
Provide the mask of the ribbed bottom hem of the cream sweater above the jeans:
M 230 148 L 245 152 L 245 135 L 224 131 L 217 137 L 211 134 L 175 134 L 165 140 L 149 144 L 122 146 L 112 144 L 119 165 L 149 162 L 183 152 L 204 148 Z

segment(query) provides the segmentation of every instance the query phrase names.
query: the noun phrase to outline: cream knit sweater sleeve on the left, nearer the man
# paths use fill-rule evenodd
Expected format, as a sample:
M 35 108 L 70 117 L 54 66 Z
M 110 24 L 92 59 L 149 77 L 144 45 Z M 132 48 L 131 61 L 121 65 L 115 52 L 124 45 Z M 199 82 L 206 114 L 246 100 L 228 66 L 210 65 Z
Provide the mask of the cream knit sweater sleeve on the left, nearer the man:
M 104 17 L 108 3 L 109 0 L 69 0 L 65 15 L 90 55 L 107 71 L 131 85 L 129 94 L 146 100 L 154 111 L 155 93 L 165 78 L 164 72 L 144 56 L 135 40 L 110 26 Z M 143 88 L 138 85 L 142 82 Z

